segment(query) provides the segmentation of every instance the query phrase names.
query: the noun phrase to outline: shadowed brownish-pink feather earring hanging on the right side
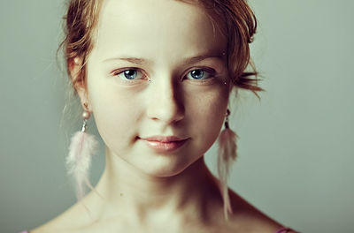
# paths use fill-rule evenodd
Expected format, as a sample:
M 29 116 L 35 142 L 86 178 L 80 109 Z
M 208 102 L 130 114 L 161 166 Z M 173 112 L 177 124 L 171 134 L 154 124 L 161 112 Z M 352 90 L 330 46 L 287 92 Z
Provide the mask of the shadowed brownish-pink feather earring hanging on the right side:
M 224 215 L 228 220 L 228 214 L 233 214 L 228 195 L 227 177 L 231 168 L 232 162 L 235 161 L 237 155 L 236 139 L 237 135 L 228 125 L 228 116 L 230 110 L 227 109 L 225 120 L 225 129 L 219 135 L 219 150 L 218 150 L 218 174 L 219 174 L 219 190 L 224 201 Z

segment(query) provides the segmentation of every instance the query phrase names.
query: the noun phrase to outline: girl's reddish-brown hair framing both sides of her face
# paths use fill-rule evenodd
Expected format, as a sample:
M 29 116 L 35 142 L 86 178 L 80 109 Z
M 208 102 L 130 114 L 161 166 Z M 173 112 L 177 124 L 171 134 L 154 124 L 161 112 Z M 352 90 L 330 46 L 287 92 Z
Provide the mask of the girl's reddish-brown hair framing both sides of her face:
M 227 37 L 227 69 L 234 86 L 254 94 L 263 91 L 258 86 L 258 72 L 250 60 L 250 46 L 257 29 L 257 19 L 247 0 L 178 0 L 198 4 L 217 21 Z M 69 0 L 65 19 L 65 39 L 59 46 L 64 49 L 66 71 L 72 86 L 78 82 L 87 85 L 86 62 L 94 48 L 93 31 L 99 19 L 102 0 Z M 70 65 L 79 57 L 81 68 L 73 79 Z M 246 69 L 250 67 L 250 71 Z M 259 96 L 258 96 L 259 98 Z

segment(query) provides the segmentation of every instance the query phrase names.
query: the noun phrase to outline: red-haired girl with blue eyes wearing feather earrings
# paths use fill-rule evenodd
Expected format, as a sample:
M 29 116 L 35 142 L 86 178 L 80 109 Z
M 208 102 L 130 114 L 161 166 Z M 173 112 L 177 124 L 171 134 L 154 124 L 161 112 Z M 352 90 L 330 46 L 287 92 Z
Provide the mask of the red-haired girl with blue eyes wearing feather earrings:
M 245 0 L 71 0 L 65 20 L 84 119 L 67 157 L 79 202 L 31 232 L 294 232 L 227 189 L 229 96 L 262 90 L 245 72 L 256 31 Z M 90 116 L 106 165 L 84 196 Z M 218 136 L 219 179 L 204 163 Z

